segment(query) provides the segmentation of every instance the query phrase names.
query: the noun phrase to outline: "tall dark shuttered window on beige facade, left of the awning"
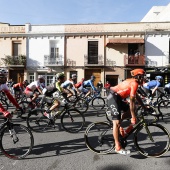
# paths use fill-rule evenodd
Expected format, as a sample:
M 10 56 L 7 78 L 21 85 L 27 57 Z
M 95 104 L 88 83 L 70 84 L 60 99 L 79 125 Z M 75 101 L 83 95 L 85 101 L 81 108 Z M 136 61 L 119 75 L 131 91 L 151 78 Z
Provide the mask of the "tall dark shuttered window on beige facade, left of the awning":
M 98 41 L 88 41 L 88 64 L 98 64 Z

